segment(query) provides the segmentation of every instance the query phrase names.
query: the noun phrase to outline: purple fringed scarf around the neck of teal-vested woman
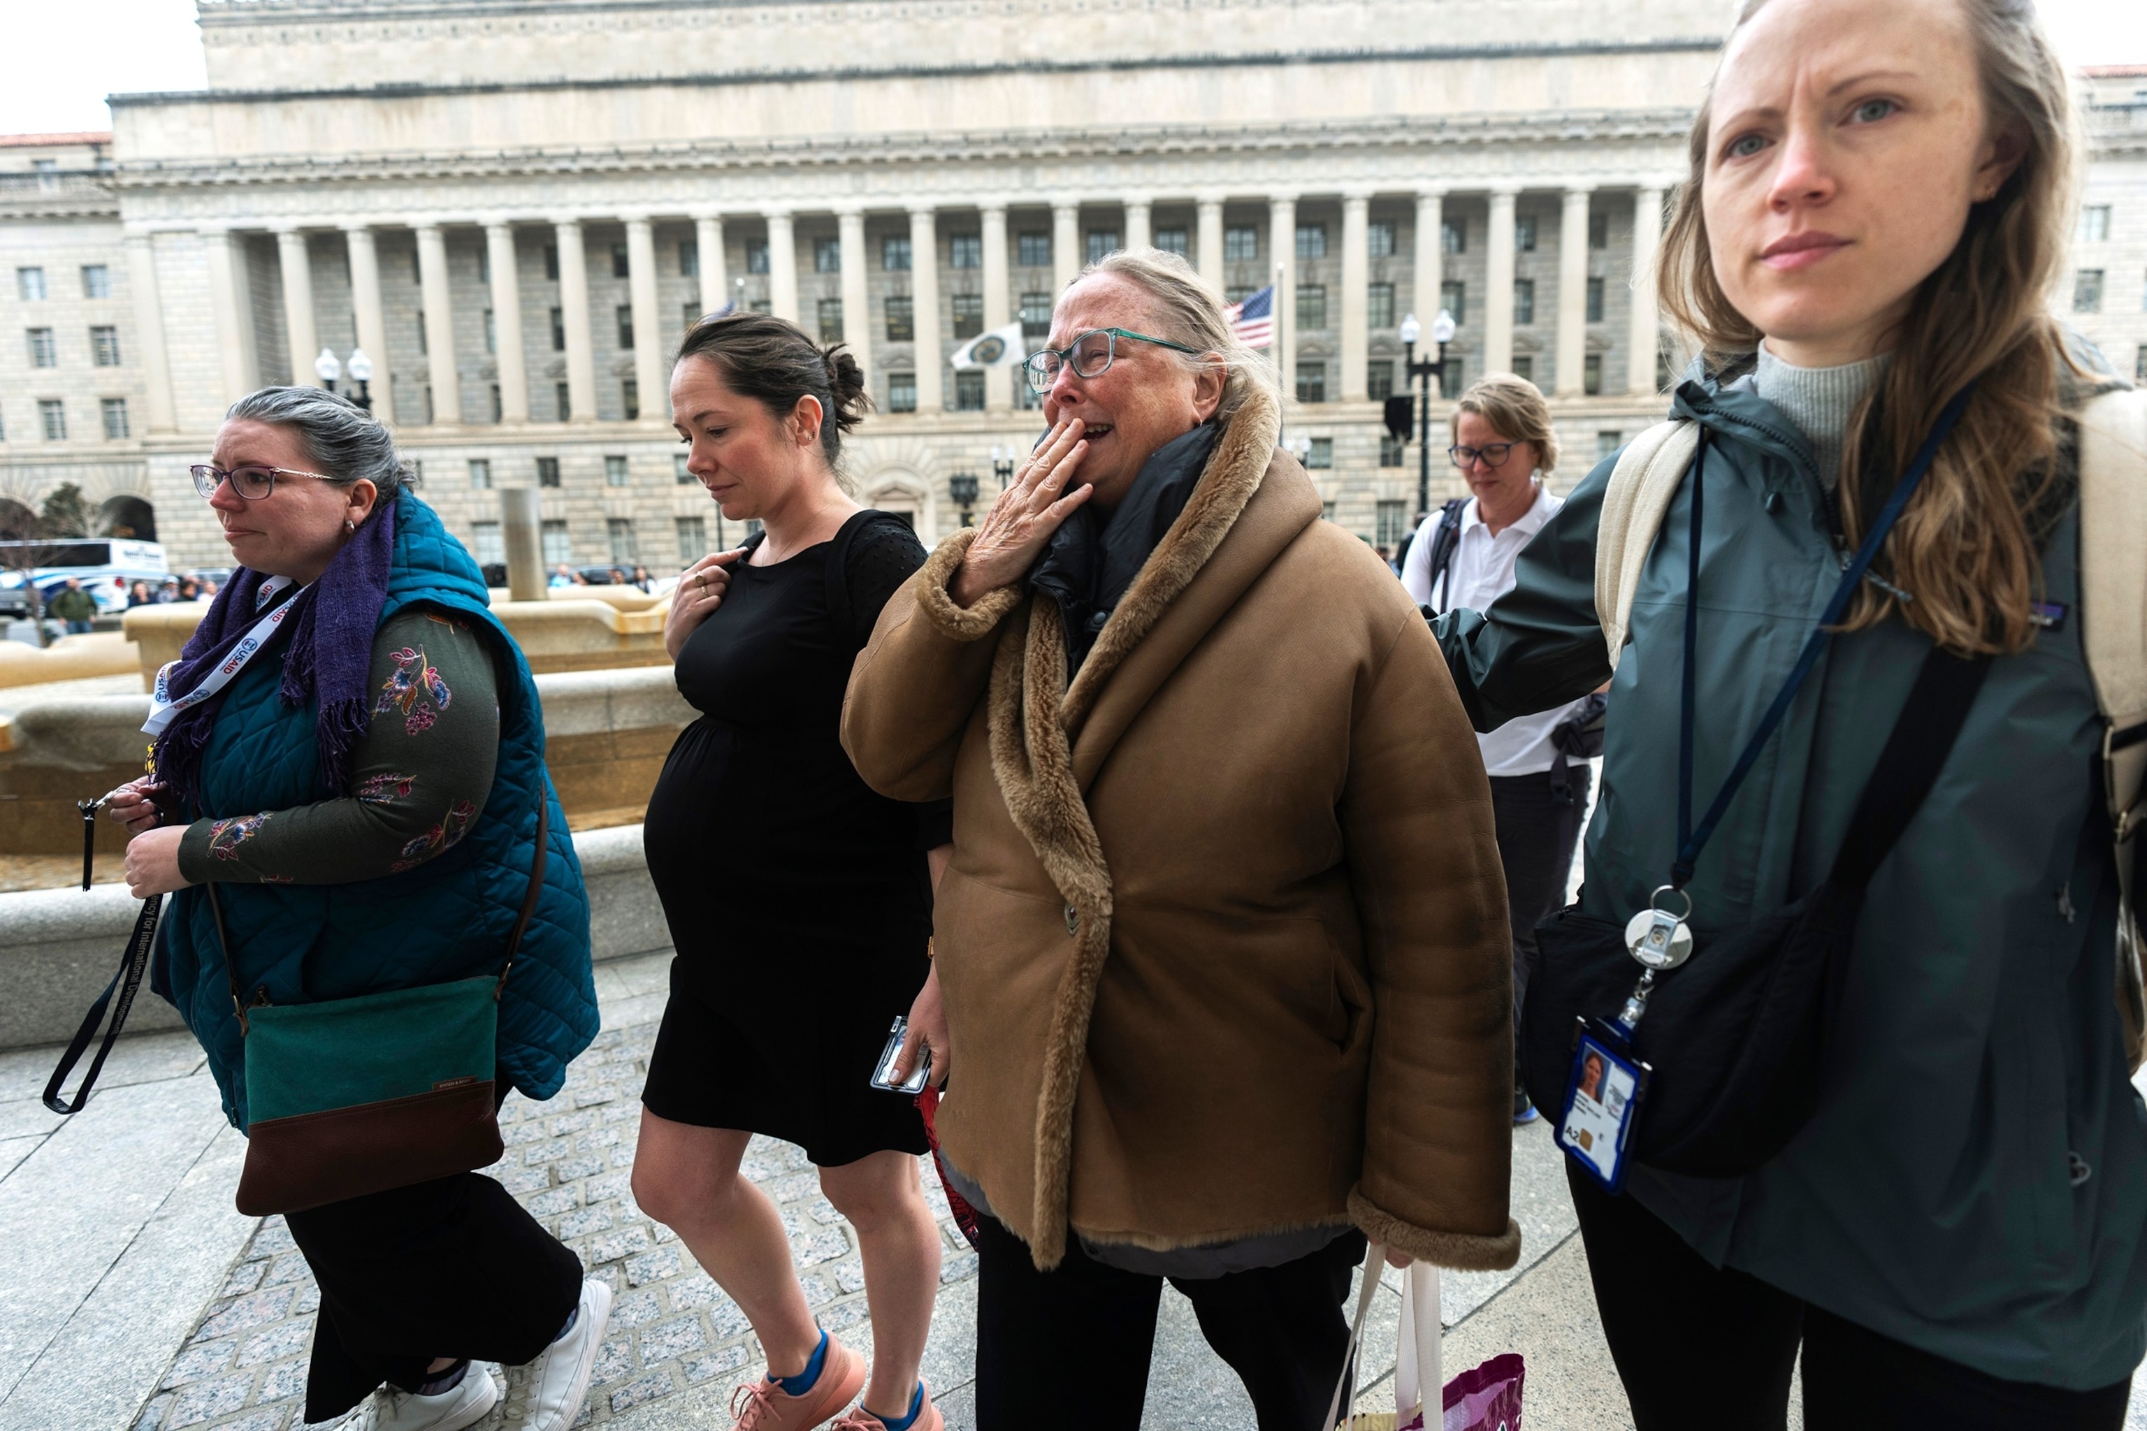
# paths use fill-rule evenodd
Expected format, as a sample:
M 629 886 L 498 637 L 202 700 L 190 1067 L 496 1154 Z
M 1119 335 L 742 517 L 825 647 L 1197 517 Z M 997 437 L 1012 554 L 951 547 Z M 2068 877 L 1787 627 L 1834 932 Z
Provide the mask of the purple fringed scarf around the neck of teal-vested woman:
M 386 502 L 344 543 L 313 586 L 292 596 L 290 644 L 283 648 L 286 706 L 305 706 L 320 697 L 313 736 L 320 742 L 320 774 L 331 794 L 350 794 L 350 747 L 365 734 L 369 719 L 365 697 L 371 678 L 374 631 L 380 607 L 389 599 L 389 571 L 395 564 L 395 502 Z M 240 566 L 223 584 L 208 616 L 193 629 L 167 689 L 180 697 L 202 684 L 232 648 L 253 629 L 260 611 L 253 599 L 266 581 L 258 571 Z M 152 755 L 157 779 L 198 802 L 202 794 L 202 751 L 217 727 L 217 710 L 230 689 L 217 691 L 200 706 L 174 719 L 157 738 Z

